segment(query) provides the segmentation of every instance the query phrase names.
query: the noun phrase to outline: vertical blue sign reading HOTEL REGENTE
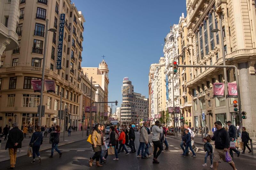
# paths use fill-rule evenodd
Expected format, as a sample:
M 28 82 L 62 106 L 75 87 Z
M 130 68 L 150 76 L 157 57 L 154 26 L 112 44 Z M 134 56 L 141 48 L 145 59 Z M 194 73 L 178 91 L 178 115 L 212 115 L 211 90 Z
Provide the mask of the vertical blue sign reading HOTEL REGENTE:
M 57 60 L 56 60 L 57 70 L 61 70 L 64 22 L 65 22 L 65 14 L 60 14 L 60 26 L 59 26 L 59 36 L 58 36 L 59 41 L 58 41 Z

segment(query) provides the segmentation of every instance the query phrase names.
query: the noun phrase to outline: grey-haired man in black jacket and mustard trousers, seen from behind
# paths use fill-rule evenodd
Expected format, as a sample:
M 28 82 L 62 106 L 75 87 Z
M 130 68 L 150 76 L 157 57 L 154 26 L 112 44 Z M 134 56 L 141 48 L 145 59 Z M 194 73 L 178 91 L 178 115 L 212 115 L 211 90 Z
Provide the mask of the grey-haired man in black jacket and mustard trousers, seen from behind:
M 7 125 L 6 125 L 7 126 Z M 5 150 L 9 148 L 10 164 L 8 169 L 15 169 L 17 149 L 21 148 L 21 143 L 24 139 L 23 132 L 18 128 L 18 123 L 13 124 L 14 128 L 9 131 L 8 140 L 6 142 Z M 8 127 L 7 127 L 8 128 Z

